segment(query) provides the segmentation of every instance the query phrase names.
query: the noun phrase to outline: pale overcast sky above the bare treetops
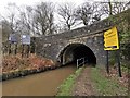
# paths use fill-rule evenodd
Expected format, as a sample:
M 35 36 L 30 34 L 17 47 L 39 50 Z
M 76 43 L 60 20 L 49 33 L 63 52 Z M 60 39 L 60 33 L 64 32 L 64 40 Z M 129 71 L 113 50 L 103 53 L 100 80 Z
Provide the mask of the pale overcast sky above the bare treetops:
M 8 16 L 8 10 L 5 9 L 5 7 L 8 7 L 8 3 L 15 3 L 17 7 L 22 7 L 22 5 L 36 5 L 39 2 L 53 2 L 54 4 L 73 2 L 75 3 L 75 5 L 80 5 L 83 2 L 91 2 L 91 1 L 106 2 L 108 0 L 2 0 L 0 2 L 0 20 L 2 20 L 2 17 Z M 128 0 L 112 0 L 112 1 L 128 1 Z M 56 16 L 55 22 L 57 22 L 56 20 L 58 20 L 58 17 L 56 14 L 55 16 Z

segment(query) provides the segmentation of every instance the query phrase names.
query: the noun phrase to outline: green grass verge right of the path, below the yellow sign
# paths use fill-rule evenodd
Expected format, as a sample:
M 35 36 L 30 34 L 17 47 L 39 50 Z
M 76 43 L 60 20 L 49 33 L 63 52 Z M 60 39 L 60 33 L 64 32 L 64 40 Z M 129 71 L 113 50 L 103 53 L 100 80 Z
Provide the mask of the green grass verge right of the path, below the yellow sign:
M 92 82 L 101 96 L 127 96 L 128 89 L 121 87 L 116 81 L 105 77 L 99 68 L 92 68 Z

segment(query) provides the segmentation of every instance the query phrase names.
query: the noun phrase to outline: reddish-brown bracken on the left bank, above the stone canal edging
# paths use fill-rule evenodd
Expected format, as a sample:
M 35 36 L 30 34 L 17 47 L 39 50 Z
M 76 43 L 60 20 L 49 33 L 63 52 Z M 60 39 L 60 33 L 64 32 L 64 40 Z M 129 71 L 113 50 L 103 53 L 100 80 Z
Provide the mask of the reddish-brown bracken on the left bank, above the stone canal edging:
M 35 54 L 29 58 L 22 58 L 17 56 L 4 56 L 2 60 L 2 72 L 8 73 L 12 71 L 23 71 L 26 69 L 42 69 L 44 66 L 54 65 L 54 63 L 44 58 L 37 57 Z

